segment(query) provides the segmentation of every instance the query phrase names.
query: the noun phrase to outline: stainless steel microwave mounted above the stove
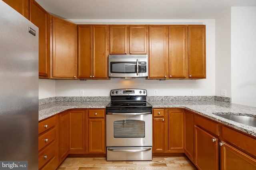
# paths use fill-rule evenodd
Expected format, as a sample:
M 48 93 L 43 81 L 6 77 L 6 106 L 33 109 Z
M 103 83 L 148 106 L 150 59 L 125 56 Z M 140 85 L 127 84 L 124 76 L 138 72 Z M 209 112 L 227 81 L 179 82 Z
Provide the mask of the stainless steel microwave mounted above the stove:
M 148 55 L 109 55 L 109 77 L 144 78 L 148 76 Z

